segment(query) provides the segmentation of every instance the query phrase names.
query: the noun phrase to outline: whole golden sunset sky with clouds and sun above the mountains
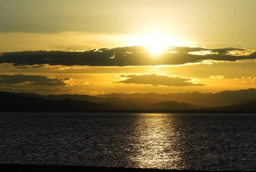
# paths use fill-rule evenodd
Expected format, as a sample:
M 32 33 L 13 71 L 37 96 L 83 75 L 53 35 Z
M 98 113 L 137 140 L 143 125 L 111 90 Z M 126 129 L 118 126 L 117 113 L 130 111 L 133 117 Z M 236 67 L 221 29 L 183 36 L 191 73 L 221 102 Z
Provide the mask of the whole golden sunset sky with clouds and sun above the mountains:
M 256 0 L 1 0 L 0 91 L 256 88 Z

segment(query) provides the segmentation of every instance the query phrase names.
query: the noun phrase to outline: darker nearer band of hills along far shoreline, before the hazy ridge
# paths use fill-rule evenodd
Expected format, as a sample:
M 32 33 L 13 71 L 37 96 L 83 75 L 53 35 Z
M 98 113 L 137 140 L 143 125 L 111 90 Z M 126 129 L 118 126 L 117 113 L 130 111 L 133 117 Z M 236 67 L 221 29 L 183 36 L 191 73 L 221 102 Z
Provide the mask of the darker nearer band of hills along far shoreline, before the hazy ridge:
M 35 95 L 40 97 L 39 95 Z M 129 100 L 129 99 L 128 99 Z M 134 99 L 131 99 L 133 102 Z M 142 100 L 143 99 L 139 99 Z M 148 99 L 146 99 L 148 100 Z M 149 99 L 149 102 L 151 100 Z M 127 102 L 126 102 L 127 103 Z M 131 103 L 133 104 L 133 103 Z M 145 108 L 145 109 L 143 109 Z M 92 103 L 78 100 L 45 100 L 44 98 L 24 97 L 8 92 L 0 92 L 0 112 L 256 112 L 256 100 L 231 106 L 202 108 L 188 103 L 163 101 L 143 108 L 123 108 L 110 103 Z

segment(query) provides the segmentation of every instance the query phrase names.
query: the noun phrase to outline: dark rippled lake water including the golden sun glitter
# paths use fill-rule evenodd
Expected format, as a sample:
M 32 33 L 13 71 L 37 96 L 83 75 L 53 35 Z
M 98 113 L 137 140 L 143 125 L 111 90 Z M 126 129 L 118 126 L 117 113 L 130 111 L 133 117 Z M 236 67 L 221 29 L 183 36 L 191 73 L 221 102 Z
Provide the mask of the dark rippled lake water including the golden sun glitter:
M 0 163 L 256 170 L 256 115 L 0 113 Z

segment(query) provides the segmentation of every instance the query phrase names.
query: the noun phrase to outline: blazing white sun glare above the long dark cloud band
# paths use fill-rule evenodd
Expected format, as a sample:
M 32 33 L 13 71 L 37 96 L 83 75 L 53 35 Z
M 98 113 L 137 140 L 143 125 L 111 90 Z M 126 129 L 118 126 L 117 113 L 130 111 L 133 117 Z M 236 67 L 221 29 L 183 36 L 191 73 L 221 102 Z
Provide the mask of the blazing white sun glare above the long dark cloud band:
M 159 54 L 167 46 L 180 46 L 180 41 L 174 37 L 170 37 L 160 33 L 151 33 L 146 35 L 138 35 L 130 37 L 130 44 L 132 46 L 145 46 L 152 54 Z

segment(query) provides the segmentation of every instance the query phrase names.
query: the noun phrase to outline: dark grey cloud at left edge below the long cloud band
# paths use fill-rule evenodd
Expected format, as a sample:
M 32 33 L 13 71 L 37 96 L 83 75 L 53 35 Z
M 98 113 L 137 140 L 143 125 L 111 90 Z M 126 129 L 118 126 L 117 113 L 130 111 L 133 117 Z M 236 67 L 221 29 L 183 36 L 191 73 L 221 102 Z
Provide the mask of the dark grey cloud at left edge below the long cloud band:
M 44 75 L 0 75 L 0 84 L 20 84 L 35 86 L 74 86 L 88 84 L 87 82 L 74 81 L 70 77 L 49 77 Z

